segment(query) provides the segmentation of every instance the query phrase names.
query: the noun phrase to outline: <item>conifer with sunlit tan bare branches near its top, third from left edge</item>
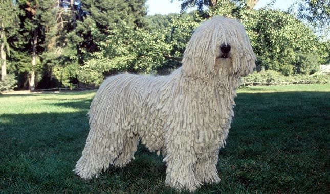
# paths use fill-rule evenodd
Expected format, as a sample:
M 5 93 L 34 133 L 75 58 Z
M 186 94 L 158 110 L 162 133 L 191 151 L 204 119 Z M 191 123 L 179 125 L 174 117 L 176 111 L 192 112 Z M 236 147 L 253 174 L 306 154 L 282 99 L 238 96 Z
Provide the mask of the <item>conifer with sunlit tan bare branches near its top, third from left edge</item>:
M 43 66 L 42 80 L 37 85 L 43 87 L 73 86 L 77 70 L 77 45 L 71 41 L 76 20 L 79 18 L 78 2 L 73 0 L 57 0 L 49 22 L 49 33 L 45 36 L 46 49 L 40 55 Z

